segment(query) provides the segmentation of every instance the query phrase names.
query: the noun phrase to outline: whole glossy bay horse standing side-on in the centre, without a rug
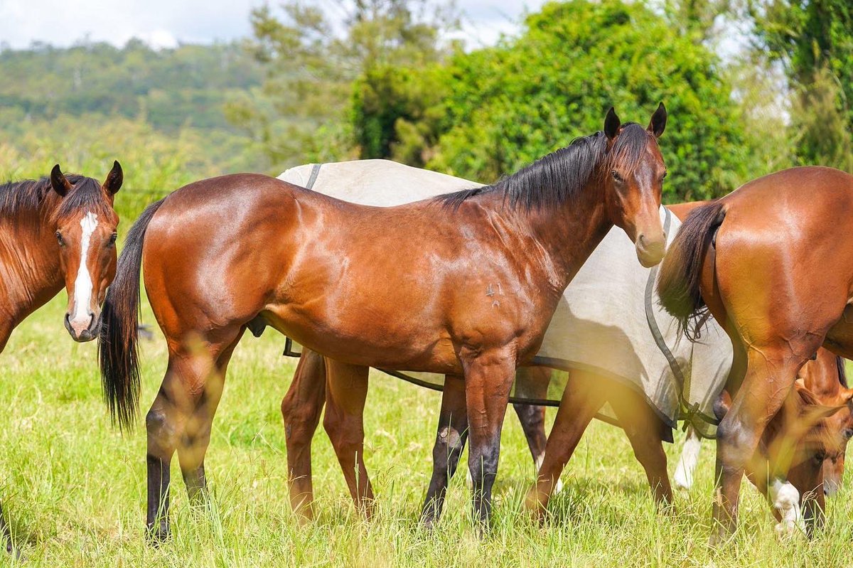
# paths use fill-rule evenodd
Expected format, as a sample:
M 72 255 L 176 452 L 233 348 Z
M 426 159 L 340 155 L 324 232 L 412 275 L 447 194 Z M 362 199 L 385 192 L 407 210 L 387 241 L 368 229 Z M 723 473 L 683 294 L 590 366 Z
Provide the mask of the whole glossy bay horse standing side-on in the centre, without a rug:
M 572 276 L 613 224 L 642 264 L 663 257 L 665 120 L 663 105 L 648 128 L 620 125 L 611 109 L 603 132 L 495 185 L 405 206 L 356 206 L 250 174 L 192 183 L 149 206 L 119 258 L 100 347 L 107 400 L 128 426 L 144 264 L 169 349 L 146 418 L 150 534 L 168 534 L 176 450 L 190 494 L 202 495 L 225 369 L 258 320 L 352 377 L 327 392 L 327 426 L 365 510 L 372 495 L 353 470 L 367 366 L 464 377 L 473 505 L 486 524 L 515 368 L 538 350 Z

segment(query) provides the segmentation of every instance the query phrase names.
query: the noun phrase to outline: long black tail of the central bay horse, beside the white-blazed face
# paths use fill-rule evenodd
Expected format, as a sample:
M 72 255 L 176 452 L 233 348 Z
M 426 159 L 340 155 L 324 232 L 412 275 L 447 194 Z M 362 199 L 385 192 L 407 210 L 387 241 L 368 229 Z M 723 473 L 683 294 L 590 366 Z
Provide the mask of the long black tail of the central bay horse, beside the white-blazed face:
M 119 256 L 115 279 L 107 291 L 98 333 L 98 357 L 104 400 L 113 424 L 131 430 L 139 408 L 139 361 L 136 355 L 139 321 L 139 275 L 142 271 L 142 243 L 145 230 L 163 200 L 145 208 L 133 223 Z

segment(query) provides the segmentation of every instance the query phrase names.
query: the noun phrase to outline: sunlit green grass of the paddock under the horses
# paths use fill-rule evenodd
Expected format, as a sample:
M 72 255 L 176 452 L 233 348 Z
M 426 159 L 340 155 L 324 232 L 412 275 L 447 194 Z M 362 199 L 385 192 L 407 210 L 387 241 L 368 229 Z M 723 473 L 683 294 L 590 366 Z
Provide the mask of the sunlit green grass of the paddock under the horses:
M 464 472 L 451 485 L 438 530 L 416 519 L 427 488 L 439 395 L 382 374 L 371 376 L 365 457 L 377 492 L 372 522 L 357 518 L 325 434 L 314 445 L 318 519 L 300 526 L 287 501 L 281 397 L 293 361 L 270 330 L 235 351 L 214 423 L 206 468 L 209 512 L 189 507 L 173 462 L 174 537 L 159 549 L 143 539 L 144 429 L 122 437 L 101 400 L 96 346 L 67 336 L 65 293 L 19 327 L 0 381 L 0 495 L 15 541 L 32 566 L 841 566 L 850 556 L 850 489 L 829 503 L 814 542 L 778 542 L 769 508 L 744 487 L 736 545 L 707 548 L 713 447 L 705 443 L 697 482 L 677 496 L 673 516 L 656 513 L 645 475 L 624 435 L 595 423 L 564 474 L 552 519 L 521 511 L 534 477 L 510 411 L 496 483 L 495 530 L 479 540 L 469 518 Z M 143 318 L 153 322 L 146 311 Z M 142 346 L 143 410 L 165 367 L 159 330 Z M 553 419 L 553 414 L 549 414 Z M 668 444 L 669 445 L 669 444 Z M 667 448 L 670 471 L 678 446 Z M 2 562 L 9 562 L 3 558 Z

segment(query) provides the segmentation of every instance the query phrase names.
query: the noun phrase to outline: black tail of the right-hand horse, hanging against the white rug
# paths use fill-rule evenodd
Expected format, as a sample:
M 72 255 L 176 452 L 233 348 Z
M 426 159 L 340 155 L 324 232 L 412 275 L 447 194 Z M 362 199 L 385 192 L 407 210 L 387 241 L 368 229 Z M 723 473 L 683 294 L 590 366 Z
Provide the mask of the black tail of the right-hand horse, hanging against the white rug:
M 688 215 L 660 266 L 658 295 L 664 310 L 678 320 L 689 339 L 697 339 L 705 321 L 705 300 L 699 280 L 705 252 L 722 224 L 726 210 L 719 201 L 699 206 Z

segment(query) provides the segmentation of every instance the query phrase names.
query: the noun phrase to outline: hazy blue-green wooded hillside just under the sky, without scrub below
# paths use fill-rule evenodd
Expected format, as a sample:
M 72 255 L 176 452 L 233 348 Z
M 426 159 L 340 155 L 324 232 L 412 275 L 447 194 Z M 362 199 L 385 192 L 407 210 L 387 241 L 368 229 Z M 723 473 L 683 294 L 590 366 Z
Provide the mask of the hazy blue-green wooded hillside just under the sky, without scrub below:
M 156 130 L 182 126 L 233 130 L 223 104 L 260 84 L 263 72 L 239 45 L 151 49 L 139 40 L 68 49 L 35 45 L 0 51 L 5 121 L 61 114 L 142 116 Z M 10 111 L 14 114 L 10 116 Z

